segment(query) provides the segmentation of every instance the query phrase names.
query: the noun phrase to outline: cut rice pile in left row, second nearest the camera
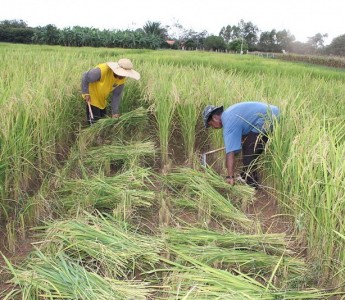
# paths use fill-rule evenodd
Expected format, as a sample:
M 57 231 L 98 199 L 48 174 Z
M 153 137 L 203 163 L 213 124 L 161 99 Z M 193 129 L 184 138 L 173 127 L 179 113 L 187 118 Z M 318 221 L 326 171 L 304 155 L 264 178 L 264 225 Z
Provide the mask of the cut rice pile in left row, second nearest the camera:
M 163 248 L 158 239 L 100 213 L 84 213 L 77 219 L 56 221 L 39 229 L 45 230 L 40 246 L 44 253 L 54 256 L 65 252 L 89 269 L 118 279 L 152 269 Z

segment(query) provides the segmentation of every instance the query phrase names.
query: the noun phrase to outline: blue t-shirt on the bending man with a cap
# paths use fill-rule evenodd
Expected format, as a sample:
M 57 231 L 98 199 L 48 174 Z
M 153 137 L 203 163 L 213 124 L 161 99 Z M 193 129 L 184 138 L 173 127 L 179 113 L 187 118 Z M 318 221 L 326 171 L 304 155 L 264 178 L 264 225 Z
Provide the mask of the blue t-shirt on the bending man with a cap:
M 266 132 L 271 129 L 272 117 L 278 115 L 278 107 L 262 102 L 241 102 L 228 107 L 222 113 L 226 153 L 242 149 L 243 135 L 251 131 Z

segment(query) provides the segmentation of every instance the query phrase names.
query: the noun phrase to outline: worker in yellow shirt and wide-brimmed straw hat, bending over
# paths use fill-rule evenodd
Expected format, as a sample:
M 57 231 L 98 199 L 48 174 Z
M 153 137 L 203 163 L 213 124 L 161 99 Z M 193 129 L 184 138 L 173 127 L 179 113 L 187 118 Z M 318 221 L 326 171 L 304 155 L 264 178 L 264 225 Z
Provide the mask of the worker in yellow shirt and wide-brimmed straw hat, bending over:
M 127 77 L 140 79 L 140 74 L 133 70 L 133 64 L 128 58 L 99 64 L 83 74 L 81 89 L 90 125 L 106 116 L 107 98 L 111 93 L 112 117 L 120 116 L 119 105 Z

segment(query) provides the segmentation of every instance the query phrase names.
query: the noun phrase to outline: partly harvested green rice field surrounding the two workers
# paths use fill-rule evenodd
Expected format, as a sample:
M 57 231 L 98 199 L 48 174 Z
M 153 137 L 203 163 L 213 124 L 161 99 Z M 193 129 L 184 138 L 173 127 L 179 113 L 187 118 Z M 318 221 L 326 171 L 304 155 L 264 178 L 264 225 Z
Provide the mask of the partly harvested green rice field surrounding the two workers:
M 80 79 L 128 57 L 120 119 L 85 123 Z M 327 299 L 345 276 L 345 71 L 223 53 L 0 44 L 1 299 Z M 291 232 L 224 182 L 205 105 L 282 115 L 260 160 Z M 298 245 L 296 247 L 296 245 Z M 299 255 L 306 248 L 306 254 Z M 0 285 L 1 286 L 1 285 Z M 340 298 L 339 298 L 340 299 Z

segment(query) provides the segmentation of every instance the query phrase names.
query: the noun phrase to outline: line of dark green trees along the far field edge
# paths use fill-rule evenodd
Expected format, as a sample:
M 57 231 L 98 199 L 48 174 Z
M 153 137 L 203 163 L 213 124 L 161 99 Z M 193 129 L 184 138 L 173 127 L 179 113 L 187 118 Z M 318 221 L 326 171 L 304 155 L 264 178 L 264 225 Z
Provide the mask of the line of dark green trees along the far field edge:
M 73 26 L 58 29 L 53 24 L 29 27 L 23 20 L 0 21 L 0 42 L 45 44 L 75 47 L 172 48 L 185 50 L 213 50 L 246 53 L 247 51 L 291 52 L 297 54 L 345 55 L 345 34 L 324 45 L 327 34 L 317 33 L 306 43 L 296 41 L 288 30 L 260 31 L 252 22 L 241 20 L 226 25 L 219 35 L 207 31 L 196 32 L 176 23 L 162 26 L 148 21 L 136 30 L 99 30 Z

